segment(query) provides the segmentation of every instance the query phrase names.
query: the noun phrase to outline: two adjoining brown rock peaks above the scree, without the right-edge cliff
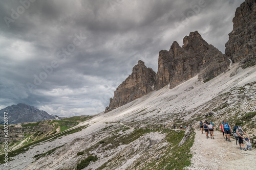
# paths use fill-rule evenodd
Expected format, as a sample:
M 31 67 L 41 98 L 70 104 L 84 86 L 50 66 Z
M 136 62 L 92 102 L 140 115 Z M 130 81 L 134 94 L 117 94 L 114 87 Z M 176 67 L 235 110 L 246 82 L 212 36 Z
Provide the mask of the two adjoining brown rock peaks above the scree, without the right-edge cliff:
M 203 40 L 197 31 L 186 36 L 183 43 L 181 47 L 174 41 L 169 51 L 159 52 L 157 74 L 139 60 L 132 74 L 114 92 L 105 112 L 168 84 L 170 88 L 174 88 L 197 74 L 200 81 L 206 81 L 227 70 L 227 58 L 216 47 Z

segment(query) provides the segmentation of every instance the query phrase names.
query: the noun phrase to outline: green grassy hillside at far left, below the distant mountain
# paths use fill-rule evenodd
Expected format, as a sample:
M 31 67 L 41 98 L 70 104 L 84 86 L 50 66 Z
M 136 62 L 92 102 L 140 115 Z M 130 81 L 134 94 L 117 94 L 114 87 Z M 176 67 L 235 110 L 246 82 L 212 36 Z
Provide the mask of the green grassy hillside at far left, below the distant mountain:
M 9 138 L 11 141 L 9 140 L 8 143 L 8 157 L 11 158 L 18 155 L 19 153 L 28 151 L 29 147 L 36 143 L 48 141 L 48 139 L 54 140 L 63 135 L 68 135 L 80 131 L 86 127 L 78 127 L 69 131 L 65 130 L 78 125 L 80 122 L 91 119 L 92 117 L 93 116 L 74 116 L 61 120 L 45 120 L 36 123 L 24 123 L 21 124 L 21 127 L 16 127 L 17 125 L 11 125 L 9 126 L 9 128 L 12 129 L 11 133 L 9 131 Z M 1 129 L 2 128 L 3 127 L 1 126 Z M 0 143 L 0 145 L 4 145 L 4 143 Z M 4 150 L 1 150 L 1 153 L 3 154 Z M 3 162 L 1 161 L 1 163 Z

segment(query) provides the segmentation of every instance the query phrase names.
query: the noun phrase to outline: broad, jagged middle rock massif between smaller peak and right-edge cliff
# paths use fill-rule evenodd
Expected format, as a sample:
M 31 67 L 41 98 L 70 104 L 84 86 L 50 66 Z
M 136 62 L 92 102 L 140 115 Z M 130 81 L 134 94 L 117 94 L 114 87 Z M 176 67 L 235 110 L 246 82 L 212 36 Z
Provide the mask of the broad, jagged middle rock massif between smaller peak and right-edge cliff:
M 212 79 L 227 69 L 226 57 L 197 31 L 184 37 L 183 44 L 174 41 L 169 51 L 159 52 L 155 90 L 167 84 L 174 88 L 197 74 L 200 81 Z

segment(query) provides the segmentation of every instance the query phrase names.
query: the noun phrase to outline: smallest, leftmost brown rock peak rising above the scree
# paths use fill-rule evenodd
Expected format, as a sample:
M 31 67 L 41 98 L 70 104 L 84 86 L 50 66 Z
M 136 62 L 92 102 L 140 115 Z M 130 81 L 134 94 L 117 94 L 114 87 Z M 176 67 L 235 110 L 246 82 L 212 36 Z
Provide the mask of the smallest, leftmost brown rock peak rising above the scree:
M 155 81 L 156 72 L 152 68 L 147 68 L 144 62 L 139 60 L 133 67 L 132 74 L 117 87 L 105 111 L 111 111 L 153 91 Z

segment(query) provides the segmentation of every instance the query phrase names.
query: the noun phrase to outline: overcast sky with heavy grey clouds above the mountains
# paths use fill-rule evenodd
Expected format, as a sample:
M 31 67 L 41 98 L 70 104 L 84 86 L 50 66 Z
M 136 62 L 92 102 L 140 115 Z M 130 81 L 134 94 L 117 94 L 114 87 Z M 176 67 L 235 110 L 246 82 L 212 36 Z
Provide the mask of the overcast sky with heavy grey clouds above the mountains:
M 241 0 L 1 0 L 0 109 L 96 114 L 138 60 L 196 31 L 222 53 Z

